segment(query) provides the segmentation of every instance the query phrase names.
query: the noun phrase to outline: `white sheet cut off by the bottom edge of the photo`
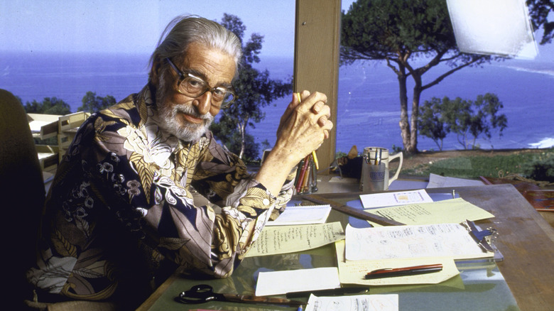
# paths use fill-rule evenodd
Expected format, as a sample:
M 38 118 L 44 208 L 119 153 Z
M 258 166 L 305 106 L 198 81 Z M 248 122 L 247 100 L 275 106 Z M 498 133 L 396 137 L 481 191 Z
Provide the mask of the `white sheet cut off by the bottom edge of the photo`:
M 310 295 L 306 311 L 398 311 L 398 294 L 316 297 Z

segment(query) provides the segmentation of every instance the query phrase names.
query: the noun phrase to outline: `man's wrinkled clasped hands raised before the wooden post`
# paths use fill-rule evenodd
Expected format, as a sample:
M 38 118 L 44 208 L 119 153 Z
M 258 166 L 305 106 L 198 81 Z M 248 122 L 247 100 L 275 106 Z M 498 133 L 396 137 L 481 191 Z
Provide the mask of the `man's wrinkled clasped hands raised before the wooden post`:
M 325 94 L 304 91 L 300 97 L 302 102 L 293 94 L 293 101 L 281 116 L 274 147 L 290 153 L 296 163 L 319 148 L 333 127 Z

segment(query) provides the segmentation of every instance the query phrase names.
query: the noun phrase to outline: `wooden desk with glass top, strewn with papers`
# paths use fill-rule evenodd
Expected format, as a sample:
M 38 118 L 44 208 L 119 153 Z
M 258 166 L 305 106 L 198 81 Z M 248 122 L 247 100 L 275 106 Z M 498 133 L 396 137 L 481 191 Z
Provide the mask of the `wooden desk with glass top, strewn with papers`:
M 459 266 L 459 277 L 439 285 L 409 288 L 372 287 L 369 293 L 398 293 L 400 310 L 518 310 L 518 307 L 521 310 L 554 310 L 554 229 L 513 185 L 433 188 L 428 191 L 451 193 L 452 189 L 468 202 L 496 216 L 477 224 L 481 227 L 494 227 L 499 231 L 495 245 L 503 254 L 504 261 L 496 265 L 462 264 Z M 337 204 L 345 204 L 356 200 L 359 194 L 348 192 L 317 196 Z M 330 221 L 337 220 L 346 224 L 348 217 L 333 211 Z M 295 310 L 291 307 L 264 309 L 257 305 L 246 309 L 246 305 L 218 305 L 218 302 L 189 306 L 173 302 L 173 297 L 197 283 L 208 283 L 214 286 L 215 290 L 224 290 L 226 293 L 251 294 L 254 293 L 257 273 L 261 270 L 336 266 L 333 256 L 334 247 L 324 246 L 303 253 L 246 258 L 230 278 L 222 280 L 188 280 L 177 272 L 168 278 L 139 310 Z M 494 277 L 495 273 L 497 277 L 500 276 L 496 269 L 499 269 L 504 279 Z M 460 281 L 465 285 L 463 289 L 457 288 L 456 283 Z M 503 304 L 504 307 L 501 306 Z

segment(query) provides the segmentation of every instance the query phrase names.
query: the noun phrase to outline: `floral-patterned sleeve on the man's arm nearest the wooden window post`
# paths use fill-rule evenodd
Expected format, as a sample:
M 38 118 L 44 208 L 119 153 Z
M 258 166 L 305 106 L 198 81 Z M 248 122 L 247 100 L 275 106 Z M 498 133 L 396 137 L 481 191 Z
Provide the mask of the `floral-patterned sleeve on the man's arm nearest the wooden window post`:
M 214 253 L 221 258 L 237 253 L 237 258 L 242 259 L 267 220 L 276 218 L 285 209 L 293 195 L 295 170 L 290 172 L 281 191 L 273 195 L 246 172 L 246 165 L 237 155 L 224 151 L 210 133 L 208 138 L 210 143 L 200 156 L 192 185 L 211 202 L 222 206 L 221 214 L 215 218 L 214 236 L 223 239 L 214 240 Z M 254 226 L 249 232 L 251 222 Z

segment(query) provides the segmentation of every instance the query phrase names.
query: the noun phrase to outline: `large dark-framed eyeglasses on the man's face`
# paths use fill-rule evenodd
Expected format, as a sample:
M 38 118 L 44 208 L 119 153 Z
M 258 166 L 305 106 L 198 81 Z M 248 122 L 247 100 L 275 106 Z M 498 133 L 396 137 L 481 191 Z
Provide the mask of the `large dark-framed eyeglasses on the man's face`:
M 173 67 L 173 70 L 179 75 L 179 82 L 177 90 L 179 93 L 188 97 L 200 97 L 205 92 L 212 92 L 211 104 L 218 108 L 229 107 L 235 99 L 237 94 L 234 94 L 232 89 L 227 87 L 210 87 L 202 78 L 192 75 L 190 72 L 182 72 L 175 64 L 169 59 L 165 58 L 169 65 Z

